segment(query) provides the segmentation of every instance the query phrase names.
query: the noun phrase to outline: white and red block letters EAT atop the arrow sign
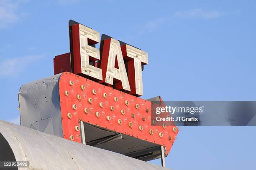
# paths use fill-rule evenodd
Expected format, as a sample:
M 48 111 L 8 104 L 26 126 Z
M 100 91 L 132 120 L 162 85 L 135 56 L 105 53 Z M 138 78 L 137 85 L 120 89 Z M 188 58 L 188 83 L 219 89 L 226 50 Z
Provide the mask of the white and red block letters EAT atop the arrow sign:
M 82 24 L 69 26 L 72 72 L 99 83 L 114 85 L 131 95 L 142 96 L 142 65 L 148 64 L 148 53 L 136 47 L 120 45 L 107 38 L 100 43 L 100 33 Z M 95 65 L 90 62 L 97 61 Z M 125 67 L 126 65 L 126 67 Z

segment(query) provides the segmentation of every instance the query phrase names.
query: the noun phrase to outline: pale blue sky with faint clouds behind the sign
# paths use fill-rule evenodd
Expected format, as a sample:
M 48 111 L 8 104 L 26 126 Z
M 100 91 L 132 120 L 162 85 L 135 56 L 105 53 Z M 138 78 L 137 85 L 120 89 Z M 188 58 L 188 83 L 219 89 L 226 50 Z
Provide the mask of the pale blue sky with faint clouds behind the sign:
M 69 52 L 69 19 L 148 52 L 143 98 L 256 100 L 255 8 L 255 0 L 0 0 L 0 119 L 17 123 L 20 86 L 54 74 L 54 56 Z M 166 165 L 254 170 L 255 130 L 182 127 Z

